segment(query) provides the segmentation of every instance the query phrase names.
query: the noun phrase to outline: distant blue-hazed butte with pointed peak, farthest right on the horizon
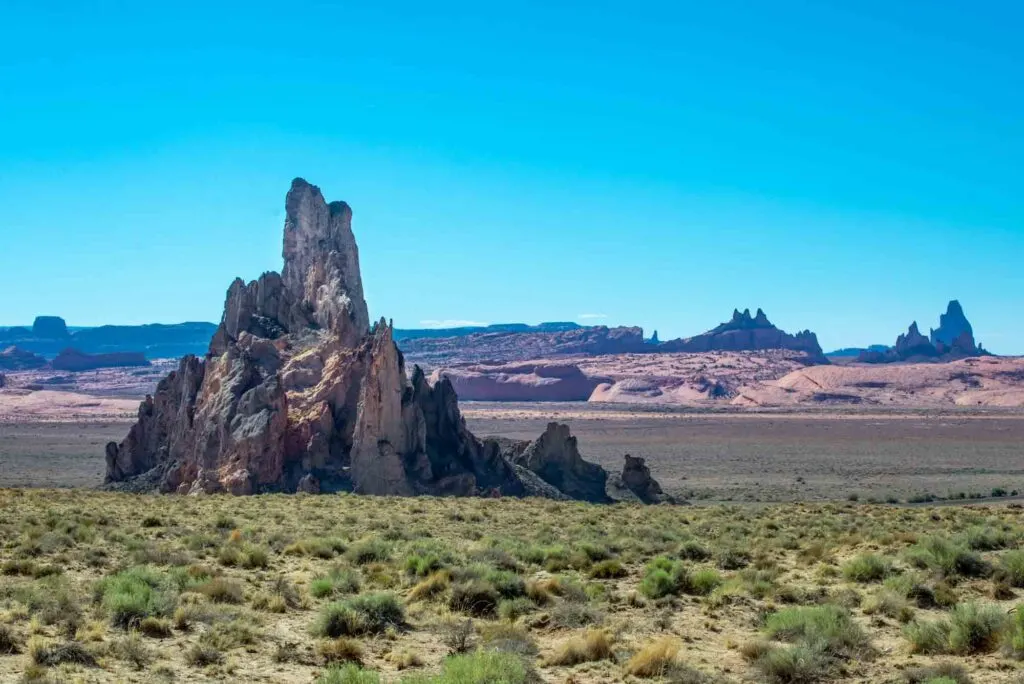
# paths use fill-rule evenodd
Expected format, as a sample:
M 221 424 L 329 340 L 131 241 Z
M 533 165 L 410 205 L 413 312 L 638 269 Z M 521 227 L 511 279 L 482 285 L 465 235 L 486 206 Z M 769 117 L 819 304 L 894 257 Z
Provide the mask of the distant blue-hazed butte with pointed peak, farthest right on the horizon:
M 964 307 L 956 300 L 949 302 L 946 312 L 939 316 L 939 327 L 926 337 L 918 323 L 911 323 L 906 333 L 896 338 L 896 344 L 885 351 L 867 350 L 860 354 L 862 364 L 892 364 L 896 361 L 952 361 L 974 356 L 989 355 L 974 339 Z

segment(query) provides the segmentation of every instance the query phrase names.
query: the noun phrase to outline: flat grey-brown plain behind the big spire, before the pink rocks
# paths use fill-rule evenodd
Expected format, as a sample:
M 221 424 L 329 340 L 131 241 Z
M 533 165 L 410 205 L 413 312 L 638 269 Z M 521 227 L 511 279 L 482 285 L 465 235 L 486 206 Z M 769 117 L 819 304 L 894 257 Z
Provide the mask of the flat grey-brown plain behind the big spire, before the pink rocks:
M 478 435 L 531 439 L 568 423 L 585 458 L 608 470 L 647 460 L 693 501 L 910 501 L 1024 493 L 1024 413 L 695 412 L 594 403 L 467 402 Z M 0 486 L 95 486 L 124 415 L 0 422 Z

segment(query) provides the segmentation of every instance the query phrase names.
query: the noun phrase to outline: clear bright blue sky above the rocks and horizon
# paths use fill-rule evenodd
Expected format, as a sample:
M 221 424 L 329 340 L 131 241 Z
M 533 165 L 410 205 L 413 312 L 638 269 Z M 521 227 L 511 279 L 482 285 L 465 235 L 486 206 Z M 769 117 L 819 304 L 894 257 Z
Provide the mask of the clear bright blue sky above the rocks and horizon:
M 1024 353 L 1024 3 L 0 0 L 0 325 L 219 319 L 294 176 L 372 315 Z

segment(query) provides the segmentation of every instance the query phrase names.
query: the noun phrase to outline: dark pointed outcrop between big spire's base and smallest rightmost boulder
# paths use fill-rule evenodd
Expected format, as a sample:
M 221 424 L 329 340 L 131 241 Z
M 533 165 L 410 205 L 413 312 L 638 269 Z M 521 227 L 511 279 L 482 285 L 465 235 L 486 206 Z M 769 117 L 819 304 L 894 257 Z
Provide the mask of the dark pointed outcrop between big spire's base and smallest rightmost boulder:
M 544 433 L 518 457 L 515 464 L 540 475 L 548 484 L 572 499 L 606 502 L 608 473 L 580 455 L 567 425 L 548 423 Z

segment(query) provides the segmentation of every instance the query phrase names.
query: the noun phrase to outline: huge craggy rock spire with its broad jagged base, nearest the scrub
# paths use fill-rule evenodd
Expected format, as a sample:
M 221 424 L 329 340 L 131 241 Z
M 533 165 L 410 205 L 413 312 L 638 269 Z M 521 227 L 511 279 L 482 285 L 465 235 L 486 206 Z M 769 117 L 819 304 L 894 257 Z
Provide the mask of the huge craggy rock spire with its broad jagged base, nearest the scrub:
M 284 270 L 230 286 L 205 358 L 182 358 L 108 445 L 108 482 L 606 501 L 567 427 L 506 452 L 469 432 L 446 378 L 407 376 L 391 325 L 370 328 L 347 205 L 296 179 L 286 213 Z

